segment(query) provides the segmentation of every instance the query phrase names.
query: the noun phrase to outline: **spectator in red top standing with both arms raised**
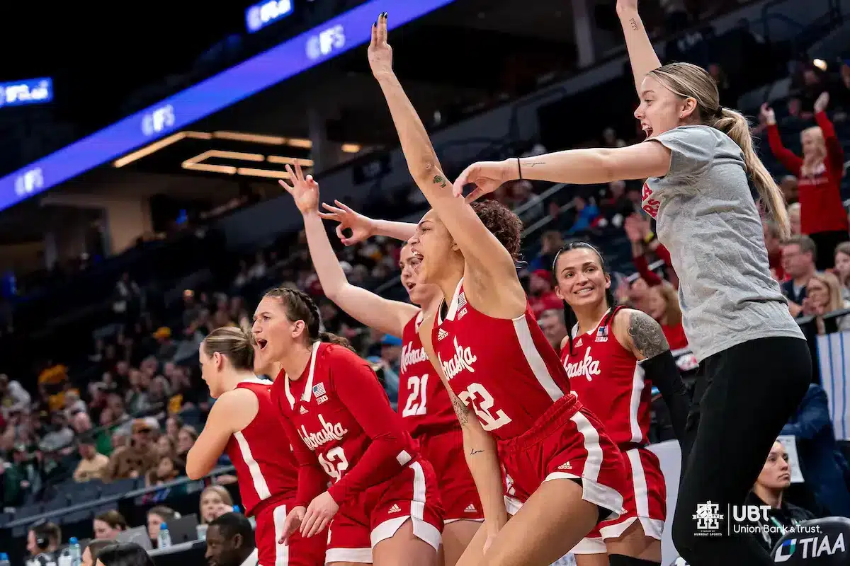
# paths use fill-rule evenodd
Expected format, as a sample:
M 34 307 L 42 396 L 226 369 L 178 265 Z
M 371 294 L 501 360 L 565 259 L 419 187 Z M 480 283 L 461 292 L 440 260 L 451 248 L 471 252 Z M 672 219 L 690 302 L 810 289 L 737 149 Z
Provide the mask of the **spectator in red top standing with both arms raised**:
M 814 103 L 814 119 L 818 126 L 807 128 L 800 134 L 802 158 L 782 145 L 774 110 L 762 104 L 770 149 L 799 180 L 802 233 L 817 244 L 819 270 L 831 267 L 836 246 L 850 238 L 841 195 L 844 152 L 832 122 L 826 117 L 829 103 L 827 92 L 823 92 Z

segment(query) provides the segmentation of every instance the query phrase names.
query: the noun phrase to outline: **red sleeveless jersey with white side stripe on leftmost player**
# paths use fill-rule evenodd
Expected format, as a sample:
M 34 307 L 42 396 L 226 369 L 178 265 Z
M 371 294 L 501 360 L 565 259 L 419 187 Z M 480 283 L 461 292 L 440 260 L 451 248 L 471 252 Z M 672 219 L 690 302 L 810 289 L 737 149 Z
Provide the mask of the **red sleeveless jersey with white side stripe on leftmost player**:
M 271 383 L 259 379 L 236 385 L 257 395 L 257 416 L 244 429 L 231 434 L 225 451 L 236 468 L 239 493 L 245 514 L 272 496 L 294 497 L 298 468 L 292 446 L 280 446 L 286 433 L 280 425 L 277 407 L 271 400 Z

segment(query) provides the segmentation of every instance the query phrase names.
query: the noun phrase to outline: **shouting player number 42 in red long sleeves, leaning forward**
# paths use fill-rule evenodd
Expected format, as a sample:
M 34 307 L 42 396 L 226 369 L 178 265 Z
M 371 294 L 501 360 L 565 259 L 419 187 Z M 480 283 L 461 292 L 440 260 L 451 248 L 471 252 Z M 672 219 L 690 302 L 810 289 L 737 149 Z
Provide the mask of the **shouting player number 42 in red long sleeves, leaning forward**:
M 330 525 L 326 563 L 433 566 L 443 529 L 433 468 L 371 367 L 320 323 L 313 300 L 284 287 L 254 315 L 261 356 L 282 366 L 272 397 L 299 464 L 281 541 Z

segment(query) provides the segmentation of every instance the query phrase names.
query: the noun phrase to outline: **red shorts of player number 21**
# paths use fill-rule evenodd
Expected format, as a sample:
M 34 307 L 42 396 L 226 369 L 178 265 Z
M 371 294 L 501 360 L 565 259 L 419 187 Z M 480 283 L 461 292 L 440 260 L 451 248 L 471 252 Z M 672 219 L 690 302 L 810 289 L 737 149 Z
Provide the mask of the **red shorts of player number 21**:
M 445 522 L 462 519 L 483 521 L 484 511 L 473 475 L 469 472 L 463 454 L 463 432 L 449 430 L 442 434 L 420 434 L 419 450 L 433 466 L 439 486 L 439 497 L 443 501 Z

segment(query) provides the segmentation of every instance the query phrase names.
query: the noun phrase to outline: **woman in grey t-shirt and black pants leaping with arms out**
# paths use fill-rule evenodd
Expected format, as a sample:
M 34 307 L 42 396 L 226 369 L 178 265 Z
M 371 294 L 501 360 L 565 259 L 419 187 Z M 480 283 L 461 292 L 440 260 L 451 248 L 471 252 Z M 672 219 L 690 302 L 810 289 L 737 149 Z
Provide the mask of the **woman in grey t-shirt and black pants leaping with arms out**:
M 705 502 L 722 509 L 744 503 L 811 382 L 808 345 L 770 277 L 750 179 L 787 234 L 784 199 L 753 149 L 747 120 L 720 104 L 706 70 L 661 66 L 637 0 L 619 0 L 617 13 L 641 100 L 635 117 L 647 140 L 476 163 L 457 178 L 455 193 L 473 183 L 474 198 L 519 178 L 574 184 L 647 179 L 643 210 L 658 222 L 658 238 L 672 256 L 683 327 L 704 369 L 694 395 L 699 423 L 693 419 L 696 426 L 682 446 L 673 541 L 693 566 L 767 566 L 770 558 L 754 537 L 700 536 L 693 516 Z

